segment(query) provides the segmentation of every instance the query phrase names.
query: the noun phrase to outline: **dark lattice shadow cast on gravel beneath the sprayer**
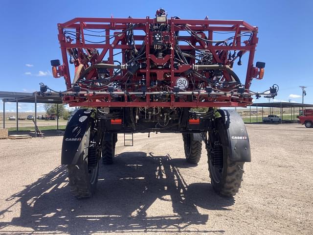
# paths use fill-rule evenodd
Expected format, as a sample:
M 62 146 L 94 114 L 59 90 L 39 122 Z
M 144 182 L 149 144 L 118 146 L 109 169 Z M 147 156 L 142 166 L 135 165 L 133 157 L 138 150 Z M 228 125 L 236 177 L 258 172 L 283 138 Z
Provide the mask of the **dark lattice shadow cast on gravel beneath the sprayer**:
M 234 199 L 219 197 L 210 184 L 186 185 L 179 172 L 180 167 L 187 167 L 183 159 L 126 152 L 114 160 L 112 165 L 101 165 L 97 193 L 87 200 L 71 197 L 66 167 L 55 168 L 7 199 L 12 206 L 21 203 L 21 215 L 11 222 L 0 223 L 0 229 L 21 226 L 38 233 L 68 234 L 148 231 L 224 234 L 223 230 L 198 230 L 197 225 L 206 224 L 209 215 L 201 214 L 195 205 L 227 210 L 224 207 L 234 204 Z M 156 200 L 163 202 L 155 203 Z M 5 221 L 5 213 L 12 206 L 0 211 L 1 221 Z M 12 231 L 11 228 L 8 229 Z M 14 231 L 19 233 L 25 231 Z

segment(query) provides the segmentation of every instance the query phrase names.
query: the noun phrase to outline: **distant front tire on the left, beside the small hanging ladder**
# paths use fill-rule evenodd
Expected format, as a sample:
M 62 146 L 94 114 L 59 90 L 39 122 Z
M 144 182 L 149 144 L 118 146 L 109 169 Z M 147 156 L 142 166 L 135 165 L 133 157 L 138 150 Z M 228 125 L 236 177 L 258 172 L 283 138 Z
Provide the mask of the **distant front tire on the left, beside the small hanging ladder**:
M 115 145 L 117 142 L 117 134 L 106 133 L 102 141 L 102 163 L 112 164 L 115 155 Z

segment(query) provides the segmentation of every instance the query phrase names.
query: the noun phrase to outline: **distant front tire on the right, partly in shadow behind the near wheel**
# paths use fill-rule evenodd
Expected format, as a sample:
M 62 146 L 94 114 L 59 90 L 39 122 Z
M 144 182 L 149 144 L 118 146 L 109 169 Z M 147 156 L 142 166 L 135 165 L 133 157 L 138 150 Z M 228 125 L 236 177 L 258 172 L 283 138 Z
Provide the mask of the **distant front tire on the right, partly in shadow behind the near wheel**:
M 201 158 L 202 141 L 194 141 L 193 134 L 182 134 L 182 140 L 187 162 L 198 164 Z

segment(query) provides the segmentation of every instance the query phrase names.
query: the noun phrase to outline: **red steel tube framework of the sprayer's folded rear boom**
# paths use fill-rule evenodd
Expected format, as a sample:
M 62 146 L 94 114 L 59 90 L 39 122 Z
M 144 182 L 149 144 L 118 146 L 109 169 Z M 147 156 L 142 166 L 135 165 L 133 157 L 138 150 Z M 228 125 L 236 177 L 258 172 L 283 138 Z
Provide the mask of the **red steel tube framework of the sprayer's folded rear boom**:
M 145 70 L 140 69 L 138 72 L 144 73 L 146 77 L 146 83 L 147 83 L 147 91 L 153 91 L 152 88 L 149 87 L 150 79 L 151 79 L 151 73 L 158 74 L 157 76 L 162 76 L 164 72 L 169 72 L 171 74 L 171 87 L 175 86 L 176 79 L 178 78 L 175 76 L 175 73 L 183 72 L 189 70 L 192 65 L 181 65 L 179 69 L 174 69 L 174 50 L 172 49 L 172 53 L 169 55 L 165 55 L 163 58 L 163 61 L 170 61 L 172 65 L 172 69 L 167 70 L 153 70 L 150 69 L 150 63 L 151 61 L 155 63 L 159 63 L 160 59 L 156 58 L 155 55 L 150 54 L 150 46 L 151 46 L 151 32 L 149 30 L 150 24 L 156 24 L 156 19 L 150 19 L 149 17 L 146 17 L 146 19 L 132 19 L 132 18 L 75 18 L 72 19 L 64 24 L 58 24 L 58 30 L 59 35 L 58 39 L 61 45 L 61 51 L 62 51 L 62 59 L 63 59 L 63 66 L 61 66 L 61 69 L 63 70 L 63 75 L 65 78 L 67 91 L 72 91 L 71 88 L 71 78 L 70 78 L 70 71 L 69 71 L 69 63 L 68 63 L 68 55 L 67 50 L 68 48 L 77 48 L 78 50 L 80 48 L 89 48 L 89 49 L 102 49 L 101 52 L 95 58 L 93 58 L 93 63 L 99 63 L 101 62 L 105 56 L 108 56 L 108 61 L 106 63 L 108 64 L 114 64 L 113 62 L 113 50 L 114 49 L 121 49 L 122 50 L 122 62 L 124 63 L 124 52 L 127 49 L 131 49 L 130 45 L 127 45 L 124 40 L 124 33 L 120 33 L 122 30 L 127 29 L 127 24 L 140 24 L 134 30 L 142 30 L 145 32 L 145 35 L 135 35 L 134 34 L 134 40 L 141 40 L 144 41 L 144 44 L 146 46 L 146 63 L 147 67 Z M 219 56 L 217 55 L 217 51 L 221 52 L 224 51 L 227 55 L 228 51 L 230 50 L 237 50 L 242 51 L 242 53 L 249 53 L 248 56 L 248 64 L 247 64 L 247 71 L 246 71 L 246 81 L 245 81 L 245 89 L 249 89 L 252 78 L 257 77 L 258 75 L 258 69 L 253 66 L 253 59 L 254 59 L 254 53 L 255 48 L 258 43 L 257 33 L 258 28 L 251 26 L 247 24 L 244 21 L 227 21 L 227 20 L 181 20 L 181 19 L 174 19 L 170 18 L 167 20 L 167 24 L 171 25 L 171 32 L 170 35 L 170 44 L 175 45 L 175 37 L 174 32 L 175 31 L 185 31 L 183 25 L 188 25 L 190 29 L 193 31 L 203 31 L 203 33 L 206 33 L 206 37 L 209 40 L 213 39 L 213 31 L 216 32 L 234 32 L 234 38 L 232 39 L 232 45 L 231 46 L 216 46 L 214 43 L 211 42 L 195 42 L 195 38 L 191 35 L 189 36 L 180 36 L 180 39 L 187 39 L 187 40 L 193 40 L 195 44 L 193 45 L 196 48 L 199 49 L 207 49 L 210 50 L 211 53 L 213 53 L 213 61 L 214 63 L 220 63 L 223 65 L 231 65 L 234 63 L 234 60 L 237 59 L 238 56 L 233 58 L 232 60 L 228 60 L 227 56 L 225 56 L 225 59 L 222 61 Z M 81 38 L 81 40 L 73 40 L 72 42 L 68 42 L 66 39 L 66 36 L 64 35 L 64 30 L 71 29 L 75 30 L 76 35 Z M 104 43 L 89 43 L 85 41 L 84 35 L 84 29 L 93 29 L 93 30 L 104 30 L 105 31 L 105 39 L 106 42 Z M 118 31 L 116 31 L 118 30 Z M 109 40 L 110 36 L 112 35 L 112 32 L 116 35 L 113 39 L 113 41 Z M 249 41 L 243 41 L 242 37 L 240 36 L 243 32 L 251 32 L 252 37 Z M 196 45 L 196 43 L 199 43 L 199 45 Z M 141 45 L 135 45 L 137 49 L 141 47 Z M 180 45 L 179 46 L 181 50 L 192 50 L 193 48 L 189 45 Z M 151 60 L 151 61 L 150 61 Z M 162 60 L 162 59 L 161 59 Z M 85 69 L 90 65 L 88 63 L 84 63 L 81 61 L 82 64 L 84 64 Z M 75 64 L 75 67 L 78 65 Z M 76 69 L 76 68 L 75 68 Z M 113 73 L 113 70 L 110 69 L 110 74 Z M 161 75 L 159 75 L 161 74 Z M 123 75 L 123 74 L 122 74 Z M 116 79 L 121 79 L 121 76 L 117 76 Z M 92 73 L 89 75 L 89 77 L 92 76 Z M 224 72 L 225 79 L 227 80 L 227 77 L 229 76 L 228 73 Z M 223 90 L 227 91 L 227 89 Z M 248 104 L 251 104 L 251 97 L 234 97 L 230 95 L 222 95 L 215 98 L 209 98 L 208 95 L 198 95 L 197 99 L 185 102 L 184 100 L 179 99 L 179 101 L 175 101 L 174 94 L 171 94 L 171 101 L 170 102 L 151 102 L 150 101 L 150 94 L 146 94 L 146 99 L 143 102 L 138 100 L 133 101 L 125 101 L 125 102 L 115 102 L 111 100 L 111 96 L 109 94 L 92 94 L 92 91 L 90 94 L 84 94 L 84 95 L 68 95 L 66 94 L 64 96 L 64 102 L 68 103 L 69 106 L 93 106 L 93 107 L 229 107 L 229 106 L 241 106 L 245 107 Z M 126 97 L 126 94 L 125 94 Z M 125 99 L 127 100 L 127 98 Z M 201 101 L 202 102 L 201 102 Z M 204 102 L 203 102 L 204 101 Z

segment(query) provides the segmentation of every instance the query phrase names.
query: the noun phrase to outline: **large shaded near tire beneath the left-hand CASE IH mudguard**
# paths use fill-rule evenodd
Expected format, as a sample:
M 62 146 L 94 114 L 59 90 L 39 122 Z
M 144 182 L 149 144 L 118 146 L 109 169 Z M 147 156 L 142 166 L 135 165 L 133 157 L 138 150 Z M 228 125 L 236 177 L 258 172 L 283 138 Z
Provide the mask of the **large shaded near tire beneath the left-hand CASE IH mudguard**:
M 93 142 L 90 127 L 86 131 L 86 137 L 82 153 L 83 163 L 67 165 L 70 192 L 78 199 L 91 197 L 98 181 L 100 152 Z

